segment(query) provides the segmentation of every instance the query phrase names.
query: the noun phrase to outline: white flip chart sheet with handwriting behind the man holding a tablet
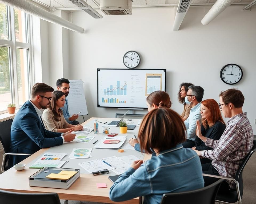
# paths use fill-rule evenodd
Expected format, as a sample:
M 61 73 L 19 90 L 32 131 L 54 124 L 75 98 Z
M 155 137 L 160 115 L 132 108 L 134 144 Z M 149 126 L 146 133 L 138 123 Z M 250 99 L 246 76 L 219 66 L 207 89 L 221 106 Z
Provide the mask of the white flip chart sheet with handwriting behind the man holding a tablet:
M 79 113 L 79 116 L 87 115 L 87 106 L 85 100 L 85 92 L 83 91 L 83 81 L 82 80 L 69 80 L 70 90 L 69 95 L 67 96 L 67 100 L 69 103 L 69 114 L 72 116 L 73 114 Z

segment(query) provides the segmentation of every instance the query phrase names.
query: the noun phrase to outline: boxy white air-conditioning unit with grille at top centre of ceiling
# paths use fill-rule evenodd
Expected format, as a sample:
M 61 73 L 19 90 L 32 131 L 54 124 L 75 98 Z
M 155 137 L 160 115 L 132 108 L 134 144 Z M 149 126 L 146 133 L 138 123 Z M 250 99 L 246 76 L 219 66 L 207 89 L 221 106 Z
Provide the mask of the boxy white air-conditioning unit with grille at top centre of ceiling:
M 106 15 L 131 15 L 132 0 L 101 0 L 100 10 Z

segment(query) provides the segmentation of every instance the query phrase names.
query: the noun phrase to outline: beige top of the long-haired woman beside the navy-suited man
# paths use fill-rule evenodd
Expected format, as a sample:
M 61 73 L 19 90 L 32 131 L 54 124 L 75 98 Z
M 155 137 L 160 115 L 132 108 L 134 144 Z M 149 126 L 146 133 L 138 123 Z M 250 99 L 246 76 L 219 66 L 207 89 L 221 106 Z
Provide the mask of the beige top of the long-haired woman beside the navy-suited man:
M 45 129 L 52 132 L 57 132 L 57 129 L 65 129 L 69 126 L 63 114 L 60 117 L 61 120 L 56 121 L 53 116 L 53 111 L 50 108 L 47 108 L 43 111 L 42 119 L 45 125 Z

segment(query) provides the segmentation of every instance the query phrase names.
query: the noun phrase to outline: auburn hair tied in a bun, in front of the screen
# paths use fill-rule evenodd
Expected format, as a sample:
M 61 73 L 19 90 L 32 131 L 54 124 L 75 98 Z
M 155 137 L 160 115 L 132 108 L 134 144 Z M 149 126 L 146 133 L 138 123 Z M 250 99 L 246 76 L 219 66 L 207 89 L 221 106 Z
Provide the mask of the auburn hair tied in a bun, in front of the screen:
M 165 91 L 154 91 L 151 94 L 148 95 L 146 98 L 147 103 L 152 106 L 152 104 L 155 104 L 159 107 L 171 107 L 171 101 L 170 96 Z

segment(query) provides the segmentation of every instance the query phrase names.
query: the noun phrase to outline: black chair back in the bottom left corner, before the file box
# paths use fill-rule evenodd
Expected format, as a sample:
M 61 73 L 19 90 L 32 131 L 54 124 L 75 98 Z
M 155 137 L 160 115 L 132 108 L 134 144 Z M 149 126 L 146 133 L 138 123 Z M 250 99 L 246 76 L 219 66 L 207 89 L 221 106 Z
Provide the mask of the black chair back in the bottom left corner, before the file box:
M 57 193 L 16 193 L 0 190 L 1 204 L 61 204 Z

